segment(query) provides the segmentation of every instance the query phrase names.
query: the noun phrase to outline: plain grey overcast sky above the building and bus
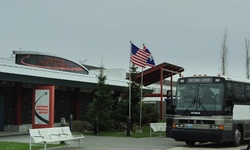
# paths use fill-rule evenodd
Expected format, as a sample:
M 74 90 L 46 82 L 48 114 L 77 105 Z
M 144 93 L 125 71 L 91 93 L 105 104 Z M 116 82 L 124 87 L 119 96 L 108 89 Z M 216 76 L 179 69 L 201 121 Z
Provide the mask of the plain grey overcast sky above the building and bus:
M 228 73 L 245 78 L 249 15 L 248 0 L 0 0 L 0 56 L 21 49 L 128 70 L 132 41 L 156 65 L 217 75 L 227 28 Z

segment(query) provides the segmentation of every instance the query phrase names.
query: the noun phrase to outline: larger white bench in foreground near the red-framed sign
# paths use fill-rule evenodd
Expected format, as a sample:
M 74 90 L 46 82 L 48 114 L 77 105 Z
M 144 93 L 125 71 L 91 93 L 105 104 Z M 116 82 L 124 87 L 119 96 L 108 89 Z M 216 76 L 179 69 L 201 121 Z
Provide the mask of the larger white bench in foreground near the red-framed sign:
M 33 143 L 43 143 L 44 150 L 46 150 L 47 143 L 77 140 L 78 147 L 80 147 L 80 140 L 84 138 L 82 134 L 73 135 L 69 127 L 55 127 L 55 128 L 40 128 L 29 129 L 30 133 L 30 150 L 32 150 Z

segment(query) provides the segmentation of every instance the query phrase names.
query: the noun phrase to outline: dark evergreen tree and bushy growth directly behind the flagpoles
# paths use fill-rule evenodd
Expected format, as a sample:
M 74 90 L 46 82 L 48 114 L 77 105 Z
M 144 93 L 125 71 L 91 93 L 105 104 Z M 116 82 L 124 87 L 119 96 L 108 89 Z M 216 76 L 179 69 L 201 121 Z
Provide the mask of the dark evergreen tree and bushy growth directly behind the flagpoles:
M 135 82 L 137 67 L 134 65 L 130 68 L 131 75 L 131 130 L 133 124 L 140 122 L 140 102 L 141 102 L 141 87 L 140 84 Z M 129 85 L 124 88 L 123 93 L 116 99 L 114 109 L 115 127 L 118 128 L 122 124 L 126 124 L 127 117 L 129 116 Z M 155 107 L 143 104 L 142 105 L 142 124 L 150 122 L 158 122 L 159 113 Z

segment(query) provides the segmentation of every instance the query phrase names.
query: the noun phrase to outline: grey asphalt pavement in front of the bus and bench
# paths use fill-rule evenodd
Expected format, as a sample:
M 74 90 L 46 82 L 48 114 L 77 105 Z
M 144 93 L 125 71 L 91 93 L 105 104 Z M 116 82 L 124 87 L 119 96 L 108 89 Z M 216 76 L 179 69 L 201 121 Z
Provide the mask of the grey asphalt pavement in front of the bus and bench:
M 29 135 L 15 135 L 0 137 L 1 141 L 30 142 Z M 197 143 L 193 147 L 188 147 L 184 142 L 177 142 L 165 137 L 131 138 L 131 137 L 106 137 L 87 135 L 81 141 L 78 148 L 77 142 L 67 142 L 67 147 L 50 148 L 52 150 L 186 150 L 186 149 L 224 149 L 240 150 L 246 147 L 247 142 L 239 147 L 230 147 L 226 144 Z

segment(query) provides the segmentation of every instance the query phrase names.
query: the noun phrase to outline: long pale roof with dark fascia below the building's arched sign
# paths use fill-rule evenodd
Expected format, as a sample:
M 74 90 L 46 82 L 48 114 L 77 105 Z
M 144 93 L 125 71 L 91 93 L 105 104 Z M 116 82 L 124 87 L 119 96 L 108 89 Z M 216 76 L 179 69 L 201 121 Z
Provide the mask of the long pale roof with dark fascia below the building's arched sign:
M 95 89 L 98 82 L 96 75 L 93 72 L 87 75 L 18 65 L 14 63 L 14 58 L 0 58 L 0 80 L 4 81 Z M 116 90 L 128 86 L 128 80 L 112 76 L 107 76 L 106 83 Z

